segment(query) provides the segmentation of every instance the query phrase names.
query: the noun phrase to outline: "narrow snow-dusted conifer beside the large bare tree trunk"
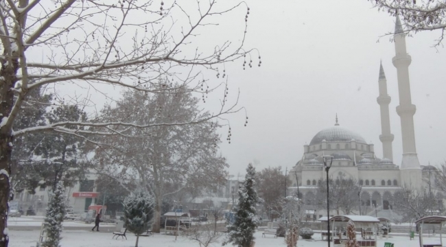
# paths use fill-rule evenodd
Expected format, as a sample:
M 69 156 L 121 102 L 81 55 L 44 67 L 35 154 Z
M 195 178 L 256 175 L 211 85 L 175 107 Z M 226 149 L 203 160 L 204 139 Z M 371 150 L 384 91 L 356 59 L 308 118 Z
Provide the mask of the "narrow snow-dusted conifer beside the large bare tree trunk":
M 59 182 L 49 199 L 47 215 L 45 217 L 45 222 L 48 224 L 47 239 L 43 242 L 43 247 L 60 246 L 60 239 L 62 239 L 62 237 L 60 237 L 60 233 L 62 233 L 62 222 L 66 214 L 64 192 L 63 183 Z

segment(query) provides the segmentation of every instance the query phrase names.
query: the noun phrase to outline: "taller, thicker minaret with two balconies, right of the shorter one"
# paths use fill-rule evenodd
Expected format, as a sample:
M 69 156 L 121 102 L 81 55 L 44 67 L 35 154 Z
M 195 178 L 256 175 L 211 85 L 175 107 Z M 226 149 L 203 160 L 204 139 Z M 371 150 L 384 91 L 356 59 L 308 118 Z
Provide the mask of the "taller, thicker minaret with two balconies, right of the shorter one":
M 401 184 L 412 187 L 421 186 L 421 167 L 416 156 L 414 114 L 416 107 L 410 97 L 409 65 L 412 58 L 406 51 L 406 34 L 397 16 L 395 23 L 395 57 L 393 65 L 397 68 L 399 106 L 397 113 L 401 118 L 401 137 L 403 139 L 403 160 L 401 162 Z

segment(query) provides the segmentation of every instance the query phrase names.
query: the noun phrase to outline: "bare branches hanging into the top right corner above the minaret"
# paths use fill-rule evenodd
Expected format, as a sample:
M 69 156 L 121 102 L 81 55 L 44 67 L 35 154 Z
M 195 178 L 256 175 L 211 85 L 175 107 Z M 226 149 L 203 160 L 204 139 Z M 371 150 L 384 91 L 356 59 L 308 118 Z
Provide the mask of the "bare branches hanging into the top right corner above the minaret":
M 445 0 L 368 0 L 378 10 L 392 16 L 403 18 L 403 30 L 406 34 L 421 31 L 441 30 L 435 45 L 443 41 L 446 28 Z

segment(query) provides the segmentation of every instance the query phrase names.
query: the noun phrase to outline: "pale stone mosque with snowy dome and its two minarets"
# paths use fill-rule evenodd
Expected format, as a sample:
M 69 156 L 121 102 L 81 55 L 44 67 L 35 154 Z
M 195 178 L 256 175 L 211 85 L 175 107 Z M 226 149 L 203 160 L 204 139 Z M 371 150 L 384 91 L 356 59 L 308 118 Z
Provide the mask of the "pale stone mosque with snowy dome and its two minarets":
M 326 178 L 324 164 L 321 156 L 333 156 L 333 162 L 329 169 L 329 176 L 339 174 L 355 178 L 361 187 L 357 196 L 361 201 L 364 211 L 379 211 L 386 217 L 386 211 L 392 209 L 390 198 L 402 189 L 404 185 L 412 188 L 423 186 L 423 174 L 428 166 L 423 167 L 419 163 L 416 154 L 414 120 L 416 107 L 412 104 L 410 95 L 409 65 L 412 58 L 406 51 L 406 34 L 401 27 L 401 21 L 397 17 L 395 22 L 395 57 L 392 63 L 397 69 L 399 106 L 397 114 L 401 118 L 401 136 L 403 143 L 403 157 L 401 165 L 393 163 L 392 141 L 390 132 L 389 108 L 390 96 L 387 93 L 386 75 L 382 64 L 379 67 L 379 96 L 377 103 L 381 109 L 382 134 L 379 139 L 382 142 L 383 158 L 375 156 L 375 147 L 367 143 L 360 134 L 342 128 L 336 124 L 318 132 L 308 145 L 303 146 L 304 154 L 300 161 L 292 168 L 289 178 L 292 187 L 288 191 L 299 190 L 299 195 L 305 204 L 311 207 L 311 198 L 314 198 L 318 180 Z M 429 174 L 430 176 L 430 174 Z M 314 210 L 314 219 L 327 215 L 327 211 Z M 364 214 L 364 213 L 363 213 Z M 379 216 L 379 215 L 378 215 Z M 309 217 L 309 215 L 307 215 Z

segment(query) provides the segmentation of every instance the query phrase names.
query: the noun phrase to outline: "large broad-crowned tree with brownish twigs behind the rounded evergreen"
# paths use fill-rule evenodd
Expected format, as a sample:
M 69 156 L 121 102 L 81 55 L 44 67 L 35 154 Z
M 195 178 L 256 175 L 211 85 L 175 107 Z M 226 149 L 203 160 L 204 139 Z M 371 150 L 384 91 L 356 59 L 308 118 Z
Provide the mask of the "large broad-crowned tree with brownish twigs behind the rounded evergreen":
M 193 97 L 187 88 L 176 84 L 172 87 L 175 89 L 167 94 L 125 91 L 115 108 L 104 109 L 104 117 L 109 121 L 126 119 L 136 124 L 156 125 L 209 116 L 202 111 L 200 99 Z M 150 130 L 115 128 L 123 135 L 100 139 L 108 146 L 95 150 L 95 169 L 121 184 L 137 183 L 150 191 L 155 199 L 152 231 L 159 232 L 161 207 L 167 196 L 180 191 L 200 193 L 204 188 L 224 183 L 228 165 L 217 154 L 219 127 L 212 121 L 202 121 L 184 126 L 154 126 Z

